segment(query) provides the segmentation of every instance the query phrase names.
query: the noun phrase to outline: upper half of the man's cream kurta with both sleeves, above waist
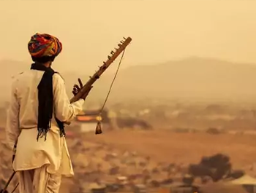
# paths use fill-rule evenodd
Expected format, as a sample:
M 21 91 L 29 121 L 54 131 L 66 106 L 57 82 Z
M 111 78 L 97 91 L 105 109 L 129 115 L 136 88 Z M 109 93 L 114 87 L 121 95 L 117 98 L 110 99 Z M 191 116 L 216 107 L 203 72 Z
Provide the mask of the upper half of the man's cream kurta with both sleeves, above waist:
M 7 141 L 14 146 L 21 130 L 37 130 L 38 122 L 38 89 L 44 71 L 29 70 L 18 74 L 12 82 L 10 109 L 7 113 Z M 82 111 L 83 99 L 70 104 L 64 79 L 59 74 L 53 74 L 53 117 L 61 122 L 71 120 Z M 56 125 L 56 119 L 52 119 Z M 37 136 L 35 136 L 36 138 Z

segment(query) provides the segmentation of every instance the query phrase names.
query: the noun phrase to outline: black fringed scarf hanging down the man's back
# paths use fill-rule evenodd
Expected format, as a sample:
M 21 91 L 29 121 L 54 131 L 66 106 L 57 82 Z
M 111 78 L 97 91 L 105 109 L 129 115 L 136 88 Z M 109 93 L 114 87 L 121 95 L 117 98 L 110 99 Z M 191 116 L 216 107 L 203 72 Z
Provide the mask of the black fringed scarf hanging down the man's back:
M 50 130 L 51 119 L 53 118 L 53 68 L 47 68 L 41 63 L 32 63 L 31 70 L 45 71 L 39 82 L 38 89 L 38 122 L 37 122 L 37 141 L 39 137 L 45 136 Z M 64 123 L 56 119 L 59 126 L 60 135 L 65 136 Z

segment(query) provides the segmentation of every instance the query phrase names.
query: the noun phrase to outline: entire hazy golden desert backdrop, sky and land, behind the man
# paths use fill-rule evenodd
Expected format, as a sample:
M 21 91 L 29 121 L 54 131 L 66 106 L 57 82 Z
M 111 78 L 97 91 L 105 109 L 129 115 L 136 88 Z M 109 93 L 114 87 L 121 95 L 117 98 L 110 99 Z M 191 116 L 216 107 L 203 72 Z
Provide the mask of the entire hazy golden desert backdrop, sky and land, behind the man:
M 38 32 L 63 46 L 51 67 L 69 98 L 132 39 L 117 76 L 121 55 L 94 83 L 86 115 L 66 127 L 75 176 L 59 193 L 256 192 L 256 1 L 45 2 L 0 1 L 0 189 L 12 174 L 12 79 L 30 71 Z M 99 113 L 114 77 L 95 135 L 100 117 L 89 111 Z

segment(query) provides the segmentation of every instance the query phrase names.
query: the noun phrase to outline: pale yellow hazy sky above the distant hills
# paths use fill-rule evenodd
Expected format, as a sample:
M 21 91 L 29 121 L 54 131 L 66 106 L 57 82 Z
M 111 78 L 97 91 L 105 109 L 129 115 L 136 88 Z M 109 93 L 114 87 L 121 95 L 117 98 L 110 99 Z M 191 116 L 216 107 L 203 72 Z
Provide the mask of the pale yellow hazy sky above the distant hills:
M 0 59 L 29 61 L 31 35 L 58 36 L 62 71 L 96 68 L 123 36 L 132 37 L 124 66 L 190 56 L 256 63 L 256 0 L 1 0 L 0 29 Z

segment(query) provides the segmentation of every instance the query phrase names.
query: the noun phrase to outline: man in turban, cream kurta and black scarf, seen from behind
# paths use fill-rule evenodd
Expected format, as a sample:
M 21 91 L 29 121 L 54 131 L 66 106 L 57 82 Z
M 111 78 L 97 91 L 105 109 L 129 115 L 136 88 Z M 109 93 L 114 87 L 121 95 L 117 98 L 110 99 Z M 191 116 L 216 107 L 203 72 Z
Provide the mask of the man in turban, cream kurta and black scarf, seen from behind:
M 34 63 L 12 82 L 7 143 L 16 146 L 12 168 L 19 176 L 20 193 L 56 193 L 61 176 L 74 174 L 64 122 L 71 122 L 82 111 L 89 92 L 69 103 L 64 80 L 51 68 L 62 50 L 59 39 L 35 34 L 28 47 Z M 80 87 L 75 85 L 73 93 Z

